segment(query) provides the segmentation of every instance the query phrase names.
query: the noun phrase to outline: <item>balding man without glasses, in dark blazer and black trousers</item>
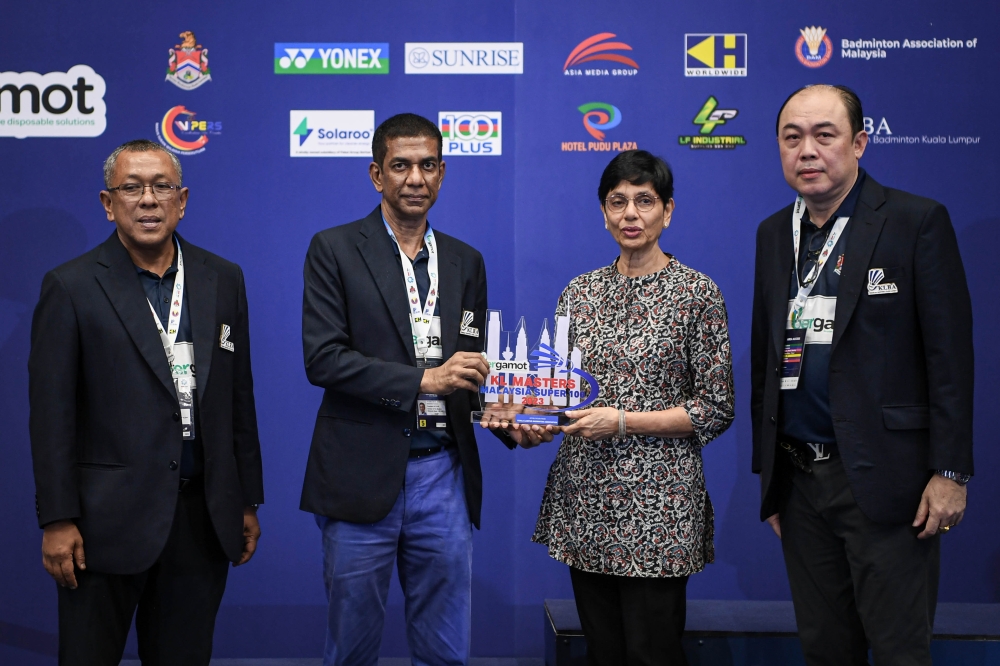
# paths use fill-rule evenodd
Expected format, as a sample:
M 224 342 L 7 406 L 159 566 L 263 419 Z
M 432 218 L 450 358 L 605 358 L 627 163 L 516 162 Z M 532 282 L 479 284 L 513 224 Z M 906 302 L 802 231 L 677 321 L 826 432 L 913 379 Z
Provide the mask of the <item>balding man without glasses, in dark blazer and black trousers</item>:
M 757 232 L 753 470 L 810 665 L 930 664 L 940 534 L 972 475 L 972 308 L 948 212 L 858 166 L 842 86 L 793 93 L 796 202 Z

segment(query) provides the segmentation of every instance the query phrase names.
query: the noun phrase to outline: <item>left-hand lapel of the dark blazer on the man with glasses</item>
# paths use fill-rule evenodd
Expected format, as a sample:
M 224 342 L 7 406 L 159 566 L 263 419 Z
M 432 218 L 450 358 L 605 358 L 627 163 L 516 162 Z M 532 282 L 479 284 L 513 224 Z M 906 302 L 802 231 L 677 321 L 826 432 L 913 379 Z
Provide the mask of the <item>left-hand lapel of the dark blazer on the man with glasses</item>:
M 97 282 L 107 294 L 129 337 L 163 387 L 171 396 L 176 396 L 163 343 L 160 342 L 160 335 L 153 324 L 153 313 L 139 283 L 135 265 L 128 256 L 125 246 L 118 239 L 117 231 L 112 232 L 111 237 L 101 245 L 97 263 L 107 269 L 97 273 Z

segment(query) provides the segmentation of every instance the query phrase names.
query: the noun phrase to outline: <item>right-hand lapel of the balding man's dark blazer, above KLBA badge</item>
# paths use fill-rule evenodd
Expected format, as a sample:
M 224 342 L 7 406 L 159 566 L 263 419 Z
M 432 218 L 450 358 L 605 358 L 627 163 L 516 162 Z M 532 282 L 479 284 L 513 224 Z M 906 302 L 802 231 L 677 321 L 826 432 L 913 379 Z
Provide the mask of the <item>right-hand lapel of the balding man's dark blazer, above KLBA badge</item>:
M 861 290 L 868 282 L 868 264 L 871 262 L 875 244 L 882 233 L 885 216 L 878 212 L 885 203 L 885 190 L 871 176 L 865 177 L 861 188 L 857 208 L 850 222 L 850 233 L 847 237 L 847 248 L 844 250 L 844 268 L 840 276 L 840 287 L 837 289 L 837 311 L 833 325 L 833 342 L 830 347 L 832 354 L 837 349 L 837 343 L 844 336 L 851 321 L 851 315 L 857 307 Z

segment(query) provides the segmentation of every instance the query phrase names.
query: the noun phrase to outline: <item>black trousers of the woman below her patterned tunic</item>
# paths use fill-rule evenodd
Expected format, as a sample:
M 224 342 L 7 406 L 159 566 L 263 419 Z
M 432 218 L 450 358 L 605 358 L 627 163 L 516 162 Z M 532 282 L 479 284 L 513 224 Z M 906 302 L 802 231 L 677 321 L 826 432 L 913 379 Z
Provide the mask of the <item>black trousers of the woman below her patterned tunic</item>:
M 687 666 L 687 576 L 633 578 L 570 567 L 590 666 Z

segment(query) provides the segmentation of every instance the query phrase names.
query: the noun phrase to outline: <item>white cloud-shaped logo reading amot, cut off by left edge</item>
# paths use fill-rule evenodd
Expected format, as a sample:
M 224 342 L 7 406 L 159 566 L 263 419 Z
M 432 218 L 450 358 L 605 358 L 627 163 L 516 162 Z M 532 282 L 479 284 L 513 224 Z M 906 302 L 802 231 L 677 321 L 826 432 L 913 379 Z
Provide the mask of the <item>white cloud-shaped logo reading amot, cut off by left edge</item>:
M 104 79 L 87 65 L 68 72 L 0 72 L 0 136 L 100 136 Z

